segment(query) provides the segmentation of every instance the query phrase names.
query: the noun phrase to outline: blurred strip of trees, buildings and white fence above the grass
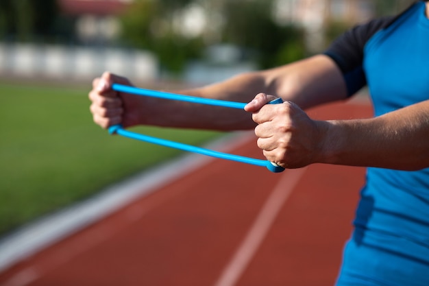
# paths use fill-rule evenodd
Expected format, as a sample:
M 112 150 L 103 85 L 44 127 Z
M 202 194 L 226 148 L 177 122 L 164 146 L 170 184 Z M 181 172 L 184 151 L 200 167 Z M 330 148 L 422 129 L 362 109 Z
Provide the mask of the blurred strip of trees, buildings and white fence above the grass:
M 0 74 L 217 80 L 323 51 L 406 0 L 1 0 Z M 204 73 L 200 72 L 204 69 Z M 229 74 L 229 72 L 228 72 Z

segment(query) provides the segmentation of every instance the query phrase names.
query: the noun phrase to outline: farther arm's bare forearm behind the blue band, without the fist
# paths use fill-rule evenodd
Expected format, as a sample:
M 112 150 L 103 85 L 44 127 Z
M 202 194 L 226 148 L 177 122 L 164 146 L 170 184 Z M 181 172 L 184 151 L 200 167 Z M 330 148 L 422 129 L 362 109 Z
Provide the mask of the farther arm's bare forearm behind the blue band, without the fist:
M 200 88 L 174 92 L 231 102 L 249 102 L 263 90 L 265 79 L 255 72 L 236 75 L 229 80 Z M 147 117 L 144 124 L 212 130 L 245 130 L 255 126 L 252 115 L 244 110 L 169 100 L 158 100 L 151 106 L 158 108 L 149 110 L 151 116 Z

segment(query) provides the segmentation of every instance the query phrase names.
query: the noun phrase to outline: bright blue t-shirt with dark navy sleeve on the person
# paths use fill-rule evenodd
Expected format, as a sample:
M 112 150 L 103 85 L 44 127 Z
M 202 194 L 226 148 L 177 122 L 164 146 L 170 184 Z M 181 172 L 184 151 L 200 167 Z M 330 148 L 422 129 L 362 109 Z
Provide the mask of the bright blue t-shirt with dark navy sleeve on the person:
M 350 95 L 368 85 L 376 116 L 429 99 L 425 12 L 419 1 L 355 27 L 325 53 Z M 337 285 L 429 285 L 429 168 L 368 168 L 354 226 Z

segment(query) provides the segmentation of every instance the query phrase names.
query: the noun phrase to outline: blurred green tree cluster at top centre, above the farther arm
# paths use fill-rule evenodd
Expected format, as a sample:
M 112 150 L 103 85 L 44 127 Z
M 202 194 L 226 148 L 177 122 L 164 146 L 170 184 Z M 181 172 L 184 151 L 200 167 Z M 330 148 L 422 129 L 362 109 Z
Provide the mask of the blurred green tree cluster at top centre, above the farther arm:
M 177 19 L 196 6 L 204 9 L 207 23 L 200 34 L 186 35 Z M 208 45 L 221 43 L 249 51 L 263 68 L 302 58 L 302 31 L 275 23 L 272 11 L 272 0 L 137 0 L 122 18 L 123 39 L 154 51 L 162 67 L 176 73 Z

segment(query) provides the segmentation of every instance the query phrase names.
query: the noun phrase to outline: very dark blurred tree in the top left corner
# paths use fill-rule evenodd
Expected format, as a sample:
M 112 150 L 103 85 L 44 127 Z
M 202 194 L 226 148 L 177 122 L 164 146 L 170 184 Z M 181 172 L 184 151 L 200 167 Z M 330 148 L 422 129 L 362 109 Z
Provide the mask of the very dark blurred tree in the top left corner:
M 20 41 L 46 38 L 57 16 L 56 0 L 1 0 L 0 36 Z

